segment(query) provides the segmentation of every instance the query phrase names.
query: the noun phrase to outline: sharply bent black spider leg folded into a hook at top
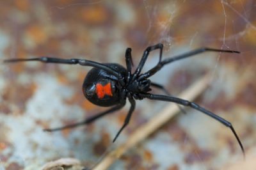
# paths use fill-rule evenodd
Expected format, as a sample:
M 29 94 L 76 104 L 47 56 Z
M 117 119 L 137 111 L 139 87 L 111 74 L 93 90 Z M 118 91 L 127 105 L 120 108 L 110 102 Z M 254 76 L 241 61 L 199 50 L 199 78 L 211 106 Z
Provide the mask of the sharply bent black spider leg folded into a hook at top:
M 135 72 L 134 72 L 134 75 L 132 77 L 132 80 L 136 79 L 137 75 L 140 74 L 143 66 L 145 65 L 145 62 L 148 58 L 148 55 L 149 53 L 152 51 L 152 50 L 156 50 L 156 49 L 159 49 L 160 50 L 160 53 L 159 53 L 159 62 L 161 61 L 162 59 L 162 53 L 163 53 L 163 44 L 162 43 L 157 43 L 156 45 L 152 45 L 152 46 L 149 46 L 147 47 L 147 49 L 143 52 L 143 56 L 140 60 L 140 63 L 138 65 L 138 67 L 136 68 Z

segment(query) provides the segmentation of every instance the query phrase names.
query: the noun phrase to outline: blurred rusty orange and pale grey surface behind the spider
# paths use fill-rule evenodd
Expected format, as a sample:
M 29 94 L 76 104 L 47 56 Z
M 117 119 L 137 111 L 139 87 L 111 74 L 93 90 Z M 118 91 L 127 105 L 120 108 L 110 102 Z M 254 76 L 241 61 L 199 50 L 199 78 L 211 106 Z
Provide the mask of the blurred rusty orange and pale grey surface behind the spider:
M 239 50 L 204 53 L 166 66 L 152 79 L 178 95 L 202 75 L 211 85 L 197 104 L 232 122 L 246 155 L 256 153 L 256 1 L 75 1 L 0 2 L 0 59 L 51 56 L 135 66 L 143 50 L 164 44 L 163 58 L 198 47 Z M 143 71 L 158 61 L 150 53 Z M 0 67 L 0 169 L 39 169 L 63 157 L 92 167 L 166 102 L 137 102 L 129 126 L 115 144 L 127 107 L 86 127 L 45 133 L 84 120 L 106 108 L 83 97 L 90 67 L 43 63 Z M 154 90 L 152 93 L 162 93 Z M 132 148 L 111 169 L 225 169 L 243 160 L 229 128 L 186 109 Z

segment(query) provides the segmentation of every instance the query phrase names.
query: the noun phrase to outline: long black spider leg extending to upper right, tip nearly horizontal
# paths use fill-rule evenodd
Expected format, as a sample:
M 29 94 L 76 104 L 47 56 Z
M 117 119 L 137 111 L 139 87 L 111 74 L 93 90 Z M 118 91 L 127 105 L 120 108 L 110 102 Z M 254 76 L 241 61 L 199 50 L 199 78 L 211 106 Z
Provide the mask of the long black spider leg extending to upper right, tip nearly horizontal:
M 154 68 L 151 68 L 150 70 L 148 70 L 148 72 L 145 72 L 145 73 L 141 74 L 138 80 L 147 79 L 148 77 L 154 75 L 156 72 L 161 70 L 161 68 L 163 68 L 163 66 L 167 65 L 168 63 L 172 63 L 173 61 L 177 61 L 177 60 L 184 59 L 184 58 L 189 58 L 191 56 L 195 56 L 196 54 L 200 54 L 200 53 L 203 53 L 203 52 L 240 53 L 239 51 L 236 51 L 236 50 L 211 49 L 211 48 L 207 48 L 207 47 L 191 50 L 191 51 L 186 52 L 184 54 L 174 56 L 173 58 L 167 58 L 167 59 L 164 59 L 163 61 L 160 61 L 156 66 L 154 66 Z

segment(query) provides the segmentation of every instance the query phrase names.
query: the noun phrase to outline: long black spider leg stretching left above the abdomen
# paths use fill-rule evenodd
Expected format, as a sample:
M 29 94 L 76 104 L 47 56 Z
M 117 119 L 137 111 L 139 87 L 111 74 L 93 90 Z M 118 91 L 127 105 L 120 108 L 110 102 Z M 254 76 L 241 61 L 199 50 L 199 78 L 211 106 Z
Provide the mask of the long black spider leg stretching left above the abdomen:
M 24 62 L 24 61 L 41 61 L 43 63 L 57 63 L 57 64 L 67 64 L 67 65 L 82 65 L 82 66 L 93 66 L 96 68 L 100 68 L 102 70 L 105 70 L 106 72 L 109 72 L 118 79 L 122 79 L 122 75 L 120 73 L 116 72 L 109 66 L 106 66 L 101 63 L 97 63 L 95 61 L 90 61 L 87 59 L 61 59 L 61 58 L 49 58 L 49 57 L 40 57 L 40 58 L 29 58 L 29 59 L 6 59 L 4 60 L 4 63 L 17 63 L 17 62 Z

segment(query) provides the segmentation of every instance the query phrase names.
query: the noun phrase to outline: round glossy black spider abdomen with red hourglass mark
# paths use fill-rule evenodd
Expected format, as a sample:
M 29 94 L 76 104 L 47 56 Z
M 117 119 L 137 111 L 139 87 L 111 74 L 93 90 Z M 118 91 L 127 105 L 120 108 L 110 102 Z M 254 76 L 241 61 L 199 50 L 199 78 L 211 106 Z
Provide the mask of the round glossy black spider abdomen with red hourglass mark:
M 118 72 L 124 72 L 125 68 L 118 64 L 109 63 Z M 100 106 L 116 105 L 120 102 L 117 77 L 100 68 L 92 68 L 86 75 L 83 83 L 83 93 L 90 102 Z

